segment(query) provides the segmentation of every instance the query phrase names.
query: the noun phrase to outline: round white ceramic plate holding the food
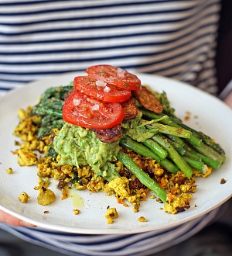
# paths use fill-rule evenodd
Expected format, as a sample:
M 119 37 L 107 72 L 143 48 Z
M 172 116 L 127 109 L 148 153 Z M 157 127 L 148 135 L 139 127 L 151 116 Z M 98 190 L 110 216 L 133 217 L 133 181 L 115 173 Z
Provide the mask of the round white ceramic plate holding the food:
M 50 189 L 56 193 L 56 201 L 49 206 L 39 206 L 37 193 L 36 167 L 19 167 L 12 136 L 14 127 L 19 123 L 17 110 L 35 105 L 39 95 L 51 86 L 67 85 L 77 73 L 59 75 L 43 81 L 36 81 L 0 99 L 0 209 L 14 216 L 34 223 L 39 227 L 78 234 L 135 234 L 151 230 L 175 227 L 198 216 L 210 212 L 232 195 L 232 111 L 219 99 L 208 95 L 191 85 L 169 78 L 138 74 L 144 85 L 149 85 L 158 92 L 165 91 L 176 116 L 184 119 L 186 112 L 190 116 L 187 124 L 196 130 L 202 130 L 217 140 L 227 154 L 227 161 L 219 170 L 213 171 L 208 178 L 197 178 L 199 185 L 191 200 L 191 208 L 176 215 L 165 213 L 155 199 L 142 202 L 138 213 L 131 207 L 121 206 L 114 196 L 88 191 L 73 191 L 68 199 L 61 200 L 60 191 L 54 180 Z M 14 173 L 6 173 L 7 168 Z M 221 178 L 227 182 L 220 184 Z M 18 197 L 27 192 L 31 199 L 24 204 Z M 107 206 L 116 207 L 119 217 L 113 224 L 107 224 L 104 213 Z M 79 208 L 80 214 L 73 215 L 73 209 Z M 49 213 L 44 213 L 49 211 Z M 146 223 L 138 222 L 138 217 L 145 216 Z

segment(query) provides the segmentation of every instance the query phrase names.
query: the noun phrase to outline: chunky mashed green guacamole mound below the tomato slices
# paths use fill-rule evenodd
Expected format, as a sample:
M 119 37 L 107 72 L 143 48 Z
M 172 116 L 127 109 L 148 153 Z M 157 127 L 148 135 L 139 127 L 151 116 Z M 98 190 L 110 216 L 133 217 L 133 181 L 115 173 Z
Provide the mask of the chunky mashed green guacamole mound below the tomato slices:
M 89 164 L 95 177 L 107 181 L 119 177 L 118 168 L 111 164 L 121 149 L 119 140 L 108 144 L 101 142 L 91 130 L 65 123 L 54 138 L 54 149 L 60 154 L 60 165 Z

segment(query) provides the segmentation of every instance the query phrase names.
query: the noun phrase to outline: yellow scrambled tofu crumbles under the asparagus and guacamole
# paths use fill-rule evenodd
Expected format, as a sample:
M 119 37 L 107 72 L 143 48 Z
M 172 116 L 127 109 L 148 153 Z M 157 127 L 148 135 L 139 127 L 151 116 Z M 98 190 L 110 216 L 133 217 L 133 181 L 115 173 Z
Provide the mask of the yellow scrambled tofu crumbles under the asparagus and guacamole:
M 20 137 L 22 144 L 17 144 L 19 149 L 15 150 L 13 154 L 18 154 L 18 161 L 21 166 L 37 166 L 39 185 L 35 189 L 39 191 L 37 201 L 40 205 L 46 206 L 56 199 L 56 195 L 48 189 L 49 178 L 54 178 L 59 181 L 57 188 L 62 192 L 62 199 L 67 198 L 65 187 L 70 184 L 71 187 L 78 190 L 88 189 L 90 192 L 106 192 L 107 195 L 115 195 L 118 203 L 127 207 L 129 203 L 135 213 L 139 211 L 141 201 L 147 199 L 149 190 L 145 185 L 142 185 L 130 170 L 125 168 L 120 161 L 114 161 L 116 167 L 120 169 L 119 175 L 121 177 L 107 182 L 104 178 L 94 177 L 94 171 L 91 170 L 89 165 L 78 167 L 58 165 L 60 155 L 48 156 L 47 153 L 54 136 L 59 133 L 59 130 L 53 130 L 50 136 L 37 140 L 40 117 L 30 116 L 30 109 L 19 110 L 20 123 L 15 127 L 14 134 Z M 36 154 L 38 151 L 45 154 L 45 156 L 39 157 Z M 132 150 L 124 149 L 124 151 L 138 164 L 139 168 L 142 168 L 162 189 L 168 192 L 168 199 L 164 207 L 165 212 L 176 214 L 189 208 L 189 199 L 193 196 L 191 193 L 196 192 L 194 177 L 188 179 L 181 171 L 176 175 L 171 174 L 150 157 L 142 157 Z M 210 168 L 204 176 L 208 174 L 210 174 Z M 198 173 L 196 172 L 195 175 L 198 175 Z M 153 197 L 155 198 L 155 195 Z M 156 201 L 160 202 L 160 199 Z M 77 214 L 78 210 L 75 209 L 73 213 Z M 108 223 L 113 223 L 114 218 L 118 217 L 118 213 L 116 209 L 107 209 L 105 216 Z M 138 221 L 145 221 L 145 219 L 141 218 Z

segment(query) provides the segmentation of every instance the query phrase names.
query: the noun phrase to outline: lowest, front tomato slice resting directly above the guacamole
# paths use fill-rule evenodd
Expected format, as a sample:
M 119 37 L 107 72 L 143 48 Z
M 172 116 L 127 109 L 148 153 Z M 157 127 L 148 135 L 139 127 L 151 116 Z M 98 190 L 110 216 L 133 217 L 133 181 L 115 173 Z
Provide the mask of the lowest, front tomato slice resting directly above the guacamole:
M 124 117 L 120 103 L 103 102 L 75 90 L 63 105 L 67 123 L 89 129 L 108 129 L 121 123 Z

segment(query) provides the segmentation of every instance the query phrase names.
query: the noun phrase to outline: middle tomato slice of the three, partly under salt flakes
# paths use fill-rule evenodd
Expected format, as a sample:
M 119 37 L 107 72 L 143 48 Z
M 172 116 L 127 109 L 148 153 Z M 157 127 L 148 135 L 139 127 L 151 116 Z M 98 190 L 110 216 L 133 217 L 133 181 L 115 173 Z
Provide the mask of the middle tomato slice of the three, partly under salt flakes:
M 97 81 L 89 76 L 74 78 L 73 86 L 77 90 L 105 102 L 125 102 L 131 98 L 131 91 L 109 85 L 104 81 Z

